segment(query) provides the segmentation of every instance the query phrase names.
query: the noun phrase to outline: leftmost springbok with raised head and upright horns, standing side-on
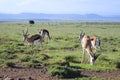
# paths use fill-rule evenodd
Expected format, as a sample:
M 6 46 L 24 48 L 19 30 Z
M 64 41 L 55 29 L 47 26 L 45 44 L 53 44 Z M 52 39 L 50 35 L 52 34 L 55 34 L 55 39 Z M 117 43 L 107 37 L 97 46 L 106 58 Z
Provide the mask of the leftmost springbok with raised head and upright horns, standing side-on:
M 36 47 L 38 48 L 38 42 L 40 42 L 41 47 L 42 47 L 42 36 L 40 36 L 39 34 L 34 34 L 31 37 L 29 37 L 28 34 L 28 29 L 26 32 L 24 32 L 23 30 L 23 42 L 27 41 L 28 42 L 28 47 L 30 47 L 30 45 L 36 45 Z

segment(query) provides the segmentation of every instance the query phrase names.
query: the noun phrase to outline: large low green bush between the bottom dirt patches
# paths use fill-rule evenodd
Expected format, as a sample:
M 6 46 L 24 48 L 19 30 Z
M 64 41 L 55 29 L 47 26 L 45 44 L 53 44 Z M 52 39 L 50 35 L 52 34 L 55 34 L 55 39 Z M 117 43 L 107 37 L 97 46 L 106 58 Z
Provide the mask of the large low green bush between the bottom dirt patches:
M 80 72 L 65 66 L 52 66 L 48 70 L 48 74 L 58 78 L 75 78 L 80 77 Z

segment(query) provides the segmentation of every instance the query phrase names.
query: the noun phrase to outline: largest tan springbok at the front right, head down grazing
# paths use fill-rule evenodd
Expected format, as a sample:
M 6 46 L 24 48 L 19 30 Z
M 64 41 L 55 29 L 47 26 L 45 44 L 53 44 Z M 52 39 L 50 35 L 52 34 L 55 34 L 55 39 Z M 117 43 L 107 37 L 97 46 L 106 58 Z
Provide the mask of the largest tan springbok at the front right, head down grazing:
M 82 45 L 82 49 L 83 49 L 83 54 L 82 54 L 82 61 L 84 61 L 85 58 L 85 52 L 88 53 L 89 58 L 90 58 L 90 64 L 93 65 L 94 64 L 94 55 L 92 53 L 92 49 L 91 49 L 91 40 L 90 37 L 88 35 L 85 35 L 85 33 L 81 32 L 81 34 L 79 35 L 79 41 L 81 41 L 81 45 Z

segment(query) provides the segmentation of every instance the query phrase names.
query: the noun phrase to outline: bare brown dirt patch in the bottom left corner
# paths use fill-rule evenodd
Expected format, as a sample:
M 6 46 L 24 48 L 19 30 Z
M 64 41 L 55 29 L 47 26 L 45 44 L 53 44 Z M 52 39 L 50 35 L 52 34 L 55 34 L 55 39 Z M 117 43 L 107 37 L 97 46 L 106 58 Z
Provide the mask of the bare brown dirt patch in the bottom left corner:
M 46 68 L 2 68 L 0 80 L 58 80 L 48 76 Z

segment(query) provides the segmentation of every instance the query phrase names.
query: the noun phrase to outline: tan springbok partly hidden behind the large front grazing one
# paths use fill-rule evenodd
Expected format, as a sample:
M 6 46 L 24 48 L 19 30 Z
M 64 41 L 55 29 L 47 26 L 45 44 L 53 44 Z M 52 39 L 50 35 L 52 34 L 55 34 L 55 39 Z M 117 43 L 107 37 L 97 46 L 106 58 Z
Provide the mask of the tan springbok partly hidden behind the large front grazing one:
M 92 48 L 94 49 L 100 49 L 101 50 L 101 47 L 100 47 L 100 39 L 96 36 L 92 36 L 90 37 L 90 40 L 91 40 L 91 44 L 92 44 Z

